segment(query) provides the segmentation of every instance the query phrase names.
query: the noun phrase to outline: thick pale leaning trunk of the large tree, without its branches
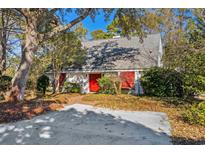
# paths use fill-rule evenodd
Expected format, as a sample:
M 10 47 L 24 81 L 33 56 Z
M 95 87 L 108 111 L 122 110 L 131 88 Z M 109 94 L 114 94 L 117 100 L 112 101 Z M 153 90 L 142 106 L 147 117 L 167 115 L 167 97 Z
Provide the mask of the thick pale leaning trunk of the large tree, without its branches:
M 32 20 L 27 26 L 26 39 L 22 45 L 20 65 L 14 78 L 12 79 L 12 88 L 9 95 L 10 101 L 22 101 L 24 99 L 26 82 L 28 79 L 31 64 L 33 62 L 33 54 L 37 51 L 38 48 L 37 42 L 38 37 L 35 27 L 35 21 Z

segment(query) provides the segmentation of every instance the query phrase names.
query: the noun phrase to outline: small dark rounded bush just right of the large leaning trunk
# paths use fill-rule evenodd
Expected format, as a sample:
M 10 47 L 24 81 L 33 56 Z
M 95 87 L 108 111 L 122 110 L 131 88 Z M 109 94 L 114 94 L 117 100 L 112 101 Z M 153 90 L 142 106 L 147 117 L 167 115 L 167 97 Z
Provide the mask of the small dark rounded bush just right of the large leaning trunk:
M 42 75 L 37 80 L 37 91 L 43 95 L 46 93 L 46 88 L 49 86 L 49 78 L 46 75 Z

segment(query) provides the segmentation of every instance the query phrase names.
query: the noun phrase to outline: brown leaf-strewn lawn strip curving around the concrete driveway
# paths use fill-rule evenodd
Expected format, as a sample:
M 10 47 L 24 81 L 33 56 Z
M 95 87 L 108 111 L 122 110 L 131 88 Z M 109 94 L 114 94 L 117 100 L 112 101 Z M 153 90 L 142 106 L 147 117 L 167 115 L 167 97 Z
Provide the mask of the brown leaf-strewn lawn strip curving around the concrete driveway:
M 174 144 L 200 144 L 205 142 L 205 127 L 185 123 L 181 117 L 183 105 L 171 105 L 166 100 L 132 95 L 56 94 L 35 98 L 27 95 L 23 103 L 0 102 L 0 123 L 30 119 L 45 112 L 58 110 L 65 104 L 83 103 L 97 107 L 127 111 L 165 112 L 171 124 Z

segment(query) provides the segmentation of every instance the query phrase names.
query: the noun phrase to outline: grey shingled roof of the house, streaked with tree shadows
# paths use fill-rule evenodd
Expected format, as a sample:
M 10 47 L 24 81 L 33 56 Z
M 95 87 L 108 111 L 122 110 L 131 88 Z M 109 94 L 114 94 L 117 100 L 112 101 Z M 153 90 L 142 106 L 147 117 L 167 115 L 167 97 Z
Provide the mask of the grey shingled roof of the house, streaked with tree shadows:
M 70 66 L 64 71 L 135 70 L 158 66 L 161 57 L 160 34 L 147 35 L 140 43 L 139 37 L 125 37 L 82 42 L 87 49 L 85 61 L 80 66 Z

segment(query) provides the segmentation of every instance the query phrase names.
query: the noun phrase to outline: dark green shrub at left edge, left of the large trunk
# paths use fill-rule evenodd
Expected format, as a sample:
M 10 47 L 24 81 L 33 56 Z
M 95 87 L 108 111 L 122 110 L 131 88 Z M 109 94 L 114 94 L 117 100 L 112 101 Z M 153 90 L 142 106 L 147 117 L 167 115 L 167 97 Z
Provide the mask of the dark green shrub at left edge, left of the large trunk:
M 7 91 L 10 88 L 12 77 L 10 76 L 0 76 L 0 92 Z

